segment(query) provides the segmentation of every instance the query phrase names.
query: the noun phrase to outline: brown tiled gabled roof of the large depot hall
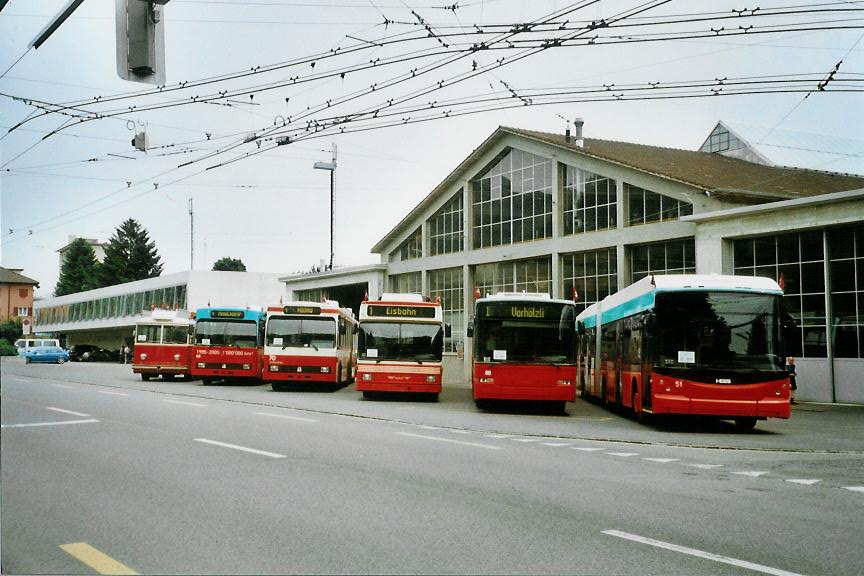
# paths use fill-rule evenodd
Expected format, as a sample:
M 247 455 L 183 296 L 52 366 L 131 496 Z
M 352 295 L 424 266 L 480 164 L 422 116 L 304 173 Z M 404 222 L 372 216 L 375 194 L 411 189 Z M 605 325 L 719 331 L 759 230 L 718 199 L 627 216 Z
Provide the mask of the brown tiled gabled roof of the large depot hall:
M 864 187 L 864 177 L 833 172 L 817 172 L 795 168 L 776 168 L 728 158 L 720 154 L 663 148 L 630 142 L 586 138 L 584 146 L 568 143 L 564 134 L 552 134 L 520 128 L 499 126 L 480 146 L 441 181 L 411 212 L 405 215 L 375 246 L 380 254 L 385 245 L 406 228 L 418 225 L 416 218 L 438 200 L 453 182 L 463 178 L 463 172 L 495 142 L 515 135 L 566 149 L 570 152 L 626 166 L 640 172 L 710 191 L 717 196 L 746 204 L 771 200 L 786 200 Z M 469 191 L 465 191 L 469 193 Z

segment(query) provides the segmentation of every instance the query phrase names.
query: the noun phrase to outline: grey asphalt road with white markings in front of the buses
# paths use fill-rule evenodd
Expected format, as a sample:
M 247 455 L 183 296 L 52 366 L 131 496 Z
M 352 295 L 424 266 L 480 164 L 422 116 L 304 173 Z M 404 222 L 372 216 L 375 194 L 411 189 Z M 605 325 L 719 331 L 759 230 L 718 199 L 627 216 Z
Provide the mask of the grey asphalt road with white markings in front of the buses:
M 4 574 L 864 572 L 860 407 L 739 434 L 0 368 Z

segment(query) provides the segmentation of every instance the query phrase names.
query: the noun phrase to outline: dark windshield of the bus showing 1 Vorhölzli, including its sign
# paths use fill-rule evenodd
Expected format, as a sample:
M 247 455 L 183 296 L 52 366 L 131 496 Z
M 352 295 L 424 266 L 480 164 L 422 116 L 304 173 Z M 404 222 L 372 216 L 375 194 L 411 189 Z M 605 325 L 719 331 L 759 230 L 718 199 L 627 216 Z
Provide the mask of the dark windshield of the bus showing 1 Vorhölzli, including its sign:
M 556 302 L 481 302 L 475 317 L 479 362 L 576 362 L 575 308 Z

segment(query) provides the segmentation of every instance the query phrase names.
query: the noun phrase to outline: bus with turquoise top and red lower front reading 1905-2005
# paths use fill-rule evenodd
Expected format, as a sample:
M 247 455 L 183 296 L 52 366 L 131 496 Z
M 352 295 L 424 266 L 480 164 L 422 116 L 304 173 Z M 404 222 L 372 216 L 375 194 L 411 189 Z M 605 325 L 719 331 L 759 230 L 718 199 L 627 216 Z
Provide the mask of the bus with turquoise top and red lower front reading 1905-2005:
M 214 380 L 261 380 L 265 313 L 248 308 L 195 311 L 192 376 Z

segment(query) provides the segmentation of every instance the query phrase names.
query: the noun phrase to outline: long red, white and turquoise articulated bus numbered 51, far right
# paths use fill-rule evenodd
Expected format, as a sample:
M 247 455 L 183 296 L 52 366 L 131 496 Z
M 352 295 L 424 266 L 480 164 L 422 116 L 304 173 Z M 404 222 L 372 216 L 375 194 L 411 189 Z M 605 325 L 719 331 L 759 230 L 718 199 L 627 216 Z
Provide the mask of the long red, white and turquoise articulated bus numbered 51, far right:
M 577 318 L 579 386 L 639 419 L 789 418 L 782 300 L 767 278 L 646 276 Z

